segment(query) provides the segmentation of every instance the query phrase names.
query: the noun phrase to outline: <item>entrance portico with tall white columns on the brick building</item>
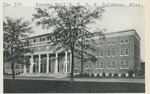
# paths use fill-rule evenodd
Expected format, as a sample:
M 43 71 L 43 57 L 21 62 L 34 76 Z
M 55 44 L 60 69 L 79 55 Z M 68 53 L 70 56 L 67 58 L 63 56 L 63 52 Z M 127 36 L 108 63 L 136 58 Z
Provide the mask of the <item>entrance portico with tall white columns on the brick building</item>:
M 42 52 L 26 56 L 30 65 L 24 65 L 24 73 L 70 73 L 70 52 Z

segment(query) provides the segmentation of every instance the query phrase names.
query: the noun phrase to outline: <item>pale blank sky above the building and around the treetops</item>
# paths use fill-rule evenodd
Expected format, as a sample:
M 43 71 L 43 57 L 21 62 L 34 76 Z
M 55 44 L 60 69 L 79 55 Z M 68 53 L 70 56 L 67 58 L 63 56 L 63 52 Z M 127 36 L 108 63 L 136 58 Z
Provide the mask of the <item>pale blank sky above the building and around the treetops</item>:
M 144 37 L 144 8 L 141 7 L 114 7 L 105 8 L 102 20 L 96 21 L 96 24 L 90 25 L 91 32 L 96 28 L 107 29 L 106 32 L 116 32 L 122 30 L 135 29 L 141 37 L 141 59 L 145 60 L 145 37 Z M 3 8 L 3 19 L 5 17 L 21 18 L 31 21 L 32 14 L 35 13 L 35 7 L 7 7 Z M 49 33 L 52 30 L 43 30 L 32 24 L 35 31 L 34 35 Z

